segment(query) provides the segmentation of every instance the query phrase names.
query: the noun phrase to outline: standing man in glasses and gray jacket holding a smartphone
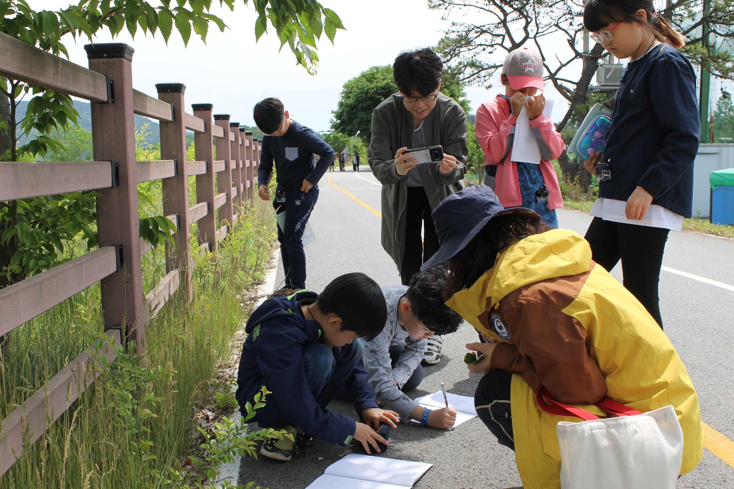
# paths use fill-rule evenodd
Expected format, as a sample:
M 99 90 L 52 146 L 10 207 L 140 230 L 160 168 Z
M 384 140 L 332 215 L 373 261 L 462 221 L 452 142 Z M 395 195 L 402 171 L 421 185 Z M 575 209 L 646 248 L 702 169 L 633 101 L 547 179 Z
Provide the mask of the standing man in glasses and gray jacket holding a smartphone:
M 393 64 L 399 93 L 372 112 L 368 163 L 382 184 L 382 247 L 403 285 L 438 250 L 431 212 L 462 188 L 466 173 L 466 117 L 456 101 L 439 92 L 442 73 L 443 62 L 431 49 L 402 52 Z M 418 164 L 407 152 L 431 146 L 442 148 L 443 159 Z M 440 337 L 432 340 L 426 363 L 440 361 Z

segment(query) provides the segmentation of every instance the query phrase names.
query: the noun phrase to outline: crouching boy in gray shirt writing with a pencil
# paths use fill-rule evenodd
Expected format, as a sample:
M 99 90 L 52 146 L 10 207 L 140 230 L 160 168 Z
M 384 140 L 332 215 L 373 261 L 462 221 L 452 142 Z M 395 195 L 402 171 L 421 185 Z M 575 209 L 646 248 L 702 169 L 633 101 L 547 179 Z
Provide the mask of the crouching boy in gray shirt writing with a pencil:
M 421 360 L 426 338 L 454 333 L 462 322 L 461 316 L 444 303 L 446 275 L 445 267 L 432 267 L 413 275 L 410 286 L 382 289 L 388 322 L 382 333 L 366 342 L 363 355 L 369 383 L 382 405 L 395 410 L 406 423 L 415 419 L 443 430 L 454 426 L 455 410 L 423 408 L 403 392 L 413 390 L 423 380 Z

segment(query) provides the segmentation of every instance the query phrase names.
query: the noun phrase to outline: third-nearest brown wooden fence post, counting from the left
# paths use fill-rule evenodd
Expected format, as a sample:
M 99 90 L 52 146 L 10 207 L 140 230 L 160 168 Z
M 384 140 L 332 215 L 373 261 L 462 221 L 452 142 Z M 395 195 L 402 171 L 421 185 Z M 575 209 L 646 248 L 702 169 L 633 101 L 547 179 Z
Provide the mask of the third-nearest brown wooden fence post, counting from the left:
M 214 209 L 214 134 L 211 132 L 212 104 L 192 104 L 194 115 L 204 120 L 205 132 L 194 134 L 197 162 L 206 162 L 206 173 L 196 175 L 196 201 L 208 203 L 209 213 L 197 221 L 199 244 L 208 243 L 209 251 L 217 251 L 217 210 Z

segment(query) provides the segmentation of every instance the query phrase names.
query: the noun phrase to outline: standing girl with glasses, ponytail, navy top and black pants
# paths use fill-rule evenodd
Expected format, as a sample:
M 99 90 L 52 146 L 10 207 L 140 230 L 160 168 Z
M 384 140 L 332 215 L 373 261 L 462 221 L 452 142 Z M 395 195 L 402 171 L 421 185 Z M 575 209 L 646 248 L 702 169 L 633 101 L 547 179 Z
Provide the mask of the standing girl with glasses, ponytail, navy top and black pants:
M 683 36 L 650 0 L 590 0 L 584 25 L 619 59 L 629 58 L 617 90 L 602 156 L 584 162 L 600 181 L 586 241 L 611 270 L 622 260 L 625 287 L 663 327 L 658 299 L 668 233 L 691 217 L 700 119 L 696 72 L 677 49 Z

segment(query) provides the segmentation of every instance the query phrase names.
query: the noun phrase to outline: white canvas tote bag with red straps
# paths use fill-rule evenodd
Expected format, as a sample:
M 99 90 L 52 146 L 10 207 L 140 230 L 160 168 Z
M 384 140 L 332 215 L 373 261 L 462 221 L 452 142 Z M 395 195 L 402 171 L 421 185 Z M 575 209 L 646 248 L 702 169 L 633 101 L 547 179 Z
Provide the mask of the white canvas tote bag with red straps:
M 673 489 L 683 460 L 683 430 L 672 405 L 640 413 L 605 396 L 597 406 L 617 417 L 556 402 L 541 385 L 542 410 L 584 421 L 559 421 L 562 489 Z

